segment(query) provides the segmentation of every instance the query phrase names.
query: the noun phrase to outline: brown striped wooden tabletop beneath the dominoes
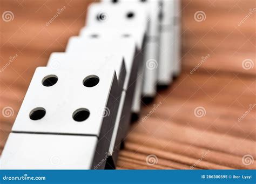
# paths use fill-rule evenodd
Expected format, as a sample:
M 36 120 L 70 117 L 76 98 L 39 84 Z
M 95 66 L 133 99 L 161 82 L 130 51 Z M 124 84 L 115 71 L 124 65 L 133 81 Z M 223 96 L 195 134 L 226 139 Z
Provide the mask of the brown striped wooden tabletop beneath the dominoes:
M 65 50 L 78 35 L 89 1 L 1 0 L 0 150 L 11 130 L 37 66 L 45 66 L 51 52 Z M 46 26 L 57 12 L 60 15 Z M 183 1 L 183 71 L 166 90 L 144 105 L 120 152 L 120 169 L 255 169 L 243 156 L 256 158 L 255 147 L 255 8 L 253 0 Z M 205 12 L 197 22 L 194 14 Z M 10 65 L 10 57 L 17 57 Z M 201 57 L 210 57 L 194 73 Z M 245 70 L 244 60 L 254 67 Z M 246 113 L 253 106 L 250 113 Z M 194 111 L 203 107 L 205 115 Z M 238 119 L 247 114 L 244 119 Z M 10 116 L 10 117 L 8 117 Z M 253 160 L 251 160 L 253 161 Z M 151 163 L 155 164 L 151 164 Z M 192 167 L 193 166 L 193 167 Z

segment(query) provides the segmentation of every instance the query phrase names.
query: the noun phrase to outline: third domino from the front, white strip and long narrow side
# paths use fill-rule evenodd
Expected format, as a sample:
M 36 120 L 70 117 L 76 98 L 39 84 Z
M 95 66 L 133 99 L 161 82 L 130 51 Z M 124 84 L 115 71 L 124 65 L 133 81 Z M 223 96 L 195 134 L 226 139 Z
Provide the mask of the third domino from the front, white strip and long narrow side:
M 123 87 L 124 93 L 122 93 L 122 96 L 120 98 L 123 100 L 125 106 L 120 105 L 118 109 L 118 113 L 120 114 L 120 117 L 122 117 L 122 119 L 116 121 L 116 126 L 114 127 L 113 136 L 111 139 L 114 147 L 111 147 L 111 150 L 109 151 L 109 159 L 112 159 L 111 162 L 116 163 L 119 147 L 122 140 L 125 138 L 130 125 L 132 99 L 139 64 L 139 57 L 135 56 L 137 56 L 137 54 L 139 53 L 136 48 L 134 38 L 132 37 L 95 38 L 91 37 L 90 33 L 87 37 L 71 37 L 68 46 L 66 47 L 66 53 L 69 54 L 69 56 L 79 56 L 81 55 L 81 53 L 82 55 L 86 56 L 87 53 L 93 52 L 95 52 L 95 54 L 100 54 L 101 56 L 109 55 L 111 57 L 111 55 L 114 53 L 119 53 L 124 56 L 126 77 Z M 64 59 L 66 59 L 65 63 L 69 67 L 69 65 L 72 64 L 70 63 L 71 58 L 69 59 L 64 56 L 63 60 Z M 51 59 L 49 60 L 49 64 L 50 63 Z M 114 148 L 114 150 L 112 148 Z

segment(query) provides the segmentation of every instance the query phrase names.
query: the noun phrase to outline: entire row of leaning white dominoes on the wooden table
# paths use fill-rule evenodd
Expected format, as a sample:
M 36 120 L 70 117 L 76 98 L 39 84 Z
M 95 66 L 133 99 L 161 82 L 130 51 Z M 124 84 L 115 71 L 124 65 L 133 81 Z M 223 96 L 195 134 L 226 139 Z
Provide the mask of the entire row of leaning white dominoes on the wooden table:
M 93 3 L 65 52 L 31 80 L 4 169 L 111 169 L 142 97 L 180 73 L 179 0 Z

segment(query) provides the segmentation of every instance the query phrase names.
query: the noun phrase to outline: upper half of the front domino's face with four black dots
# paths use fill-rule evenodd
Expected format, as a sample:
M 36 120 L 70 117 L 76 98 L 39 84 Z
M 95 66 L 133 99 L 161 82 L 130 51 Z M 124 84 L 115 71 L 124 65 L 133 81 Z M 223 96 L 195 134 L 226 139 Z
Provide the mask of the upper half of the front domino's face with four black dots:
M 55 85 L 44 86 L 43 83 L 49 80 L 49 76 L 57 77 L 58 81 Z M 86 78 L 90 79 L 88 78 L 90 76 L 97 77 L 99 82 L 96 86 L 86 87 L 83 83 Z M 97 79 L 91 78 L 91 80 Z M 111 103 L 114 104 L 111 96 L 116 97 L 116 94 L 110 93 L 112 88 L 118 88 L 113 70 L 72 73 L 38 67 L 12 131 L 99 136 L 100 132 L 104 131 L 102 123 L 105 121 L 100 107 L 113 109 L 106 106 L 109 100 L 113 100 Z M 43 117 L 39 116 L 40 112 L 37 112 L 39 110 L 45 112 Z M 79 115 L 76 117 L 76 112 L 79 110 L 85 111 L 82 113 L 85 114 L 84 118 L 88 116 L 87 119 L 81 121 Z M 38 114 L 38 117 L 31 118 L 33 114 L 35 116 Z

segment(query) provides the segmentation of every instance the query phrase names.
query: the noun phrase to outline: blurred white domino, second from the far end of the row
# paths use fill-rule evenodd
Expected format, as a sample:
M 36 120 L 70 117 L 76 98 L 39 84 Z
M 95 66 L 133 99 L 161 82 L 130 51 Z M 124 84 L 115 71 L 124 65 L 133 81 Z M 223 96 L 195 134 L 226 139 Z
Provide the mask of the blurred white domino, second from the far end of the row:
M 143 84 L 143 96 L 145 98 L 153 98 L 156 95 L 156 86 L 159 81 L 158 77 L 158 64 L 159 64 L 159 44 L 160 44 L 160 1 L 149 0 L 149 1 L 139 1 L 139 0 L 103 0 L 103 2 L 112 2 L 113 4 L 126 4 L 131 7 L 135 7 L 138 4 L 144 5 L 149 11 L 149 32 L 147 37 L 145 60 L 144 60 L 144 84 Z

